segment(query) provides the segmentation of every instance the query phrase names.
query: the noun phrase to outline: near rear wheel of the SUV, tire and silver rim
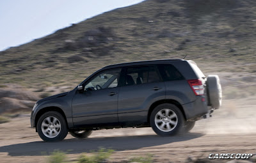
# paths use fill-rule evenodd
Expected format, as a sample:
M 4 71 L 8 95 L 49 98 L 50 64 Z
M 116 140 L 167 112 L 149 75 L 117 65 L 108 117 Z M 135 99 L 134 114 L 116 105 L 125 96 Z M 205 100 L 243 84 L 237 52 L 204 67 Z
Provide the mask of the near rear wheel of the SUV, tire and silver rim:
M 158 105 L 150 114 L 150 126 L 159 136 L 173 136 L 180 132 L 183 124 L 184 116 L 173 104 Z

